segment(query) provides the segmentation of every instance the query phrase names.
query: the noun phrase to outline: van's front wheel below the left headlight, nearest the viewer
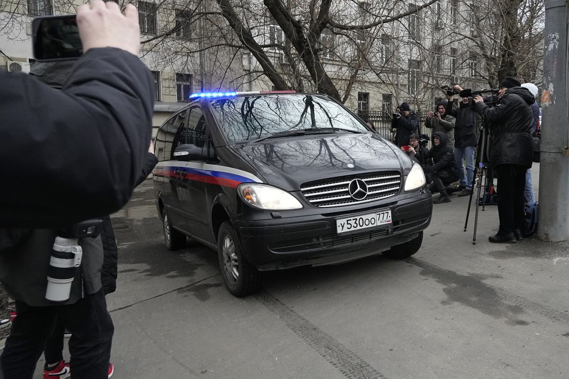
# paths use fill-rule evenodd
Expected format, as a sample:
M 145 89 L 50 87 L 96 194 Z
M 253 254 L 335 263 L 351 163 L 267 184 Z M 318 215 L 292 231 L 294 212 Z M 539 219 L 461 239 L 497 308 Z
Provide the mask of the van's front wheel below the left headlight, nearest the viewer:
M 263 286 L 263 273 L 249 264 L 241 242 L 230 221 L 217 233 L 217 257 L 221 276 L 229 292 L 236 297 L 257 293 Z

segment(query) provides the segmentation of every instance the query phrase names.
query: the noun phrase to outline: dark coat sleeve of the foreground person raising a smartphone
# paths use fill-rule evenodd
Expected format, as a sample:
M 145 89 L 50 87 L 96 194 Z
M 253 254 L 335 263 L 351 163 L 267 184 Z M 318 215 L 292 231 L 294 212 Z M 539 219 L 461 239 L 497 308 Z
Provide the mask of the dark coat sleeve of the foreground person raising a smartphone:
M 61 91 L 26 74 L 0 73 L 0 83 L 0 227 L 60 226 L 125 205 L 152 128 L 154 81 L 137 56 L 90 49 Z

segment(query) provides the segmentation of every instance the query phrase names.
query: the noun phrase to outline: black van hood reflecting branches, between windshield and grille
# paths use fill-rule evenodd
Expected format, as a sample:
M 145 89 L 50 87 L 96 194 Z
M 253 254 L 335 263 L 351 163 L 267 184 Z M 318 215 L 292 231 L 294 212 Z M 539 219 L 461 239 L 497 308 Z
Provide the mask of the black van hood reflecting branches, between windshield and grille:
M 409 172 L 412 162 L 380 136 L 331 134 L 287 136 L 234 145 L 268 184 L 287 191 L 306 182 L 350 174 L 397 170 Z

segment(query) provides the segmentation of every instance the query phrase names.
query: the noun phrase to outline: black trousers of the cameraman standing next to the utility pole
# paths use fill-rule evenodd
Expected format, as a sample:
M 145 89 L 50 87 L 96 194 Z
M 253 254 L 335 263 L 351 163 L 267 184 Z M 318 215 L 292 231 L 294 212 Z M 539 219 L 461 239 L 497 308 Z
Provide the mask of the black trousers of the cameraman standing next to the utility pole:
M 498 175 L 498 216 L 500 217 L 500 230 L 498 234 L 523 229 L 525 215 L 523 206 L 525 198 L 523 190 L 526 186 L 526 168 L 519 165 L 499 165 L 496 168 Z

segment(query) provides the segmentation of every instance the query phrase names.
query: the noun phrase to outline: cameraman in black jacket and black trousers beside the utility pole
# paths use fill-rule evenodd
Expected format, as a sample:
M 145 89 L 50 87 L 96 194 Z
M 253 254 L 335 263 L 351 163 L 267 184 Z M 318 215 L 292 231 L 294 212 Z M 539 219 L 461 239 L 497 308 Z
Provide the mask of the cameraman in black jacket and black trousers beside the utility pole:
M 492 243 L 514 243 L 523 238 L 523 190 L 533 156 L 531 104 L 535 98 L 515 78 L 506 77 L 500 83 L 496 106 L 488 107 L 480 96 L 474 101 L 476 111 L 489 122 L 493 132 L 489 160 L 498 177 L 500 228 L 488 240 Z

